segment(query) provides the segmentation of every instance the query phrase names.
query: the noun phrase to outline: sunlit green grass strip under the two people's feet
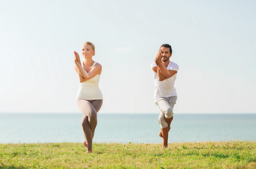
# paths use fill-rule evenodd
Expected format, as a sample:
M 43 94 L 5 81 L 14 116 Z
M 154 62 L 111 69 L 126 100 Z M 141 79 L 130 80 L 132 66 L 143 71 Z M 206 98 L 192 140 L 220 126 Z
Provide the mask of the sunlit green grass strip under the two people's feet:
M 0 144 L 0 168 L 256 168 L 256 142 Z

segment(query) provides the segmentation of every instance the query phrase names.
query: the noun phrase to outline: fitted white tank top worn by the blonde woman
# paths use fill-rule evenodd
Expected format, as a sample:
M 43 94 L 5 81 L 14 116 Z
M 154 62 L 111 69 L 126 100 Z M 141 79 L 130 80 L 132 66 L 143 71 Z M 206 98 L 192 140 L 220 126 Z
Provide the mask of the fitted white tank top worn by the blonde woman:
M 92 66 L 94 66 L 96 63 L 97 62 L 93 63 Z M 99 77 L 100 75 L 98 74 L 95 77 L 92 77 L 92 79 L 90 80 L 80 82 L 80 88 L 78 90 L 77 99 L 103 99 L 102 92 L 99 89 Z

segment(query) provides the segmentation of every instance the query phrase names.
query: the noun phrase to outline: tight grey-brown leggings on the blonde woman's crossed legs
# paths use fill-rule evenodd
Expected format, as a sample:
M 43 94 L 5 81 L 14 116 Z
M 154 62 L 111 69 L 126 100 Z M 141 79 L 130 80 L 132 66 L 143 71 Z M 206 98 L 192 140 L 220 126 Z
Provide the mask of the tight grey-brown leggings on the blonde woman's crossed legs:
M 99 100 L 83 100 L 78 99 L 78 108 L 84 114 L 81 124 L 87 143 L 87 150 L 92 150 L 92 138 L 95 134 L 97 126 L 97 112 L 102 107 L 102 99 Z

